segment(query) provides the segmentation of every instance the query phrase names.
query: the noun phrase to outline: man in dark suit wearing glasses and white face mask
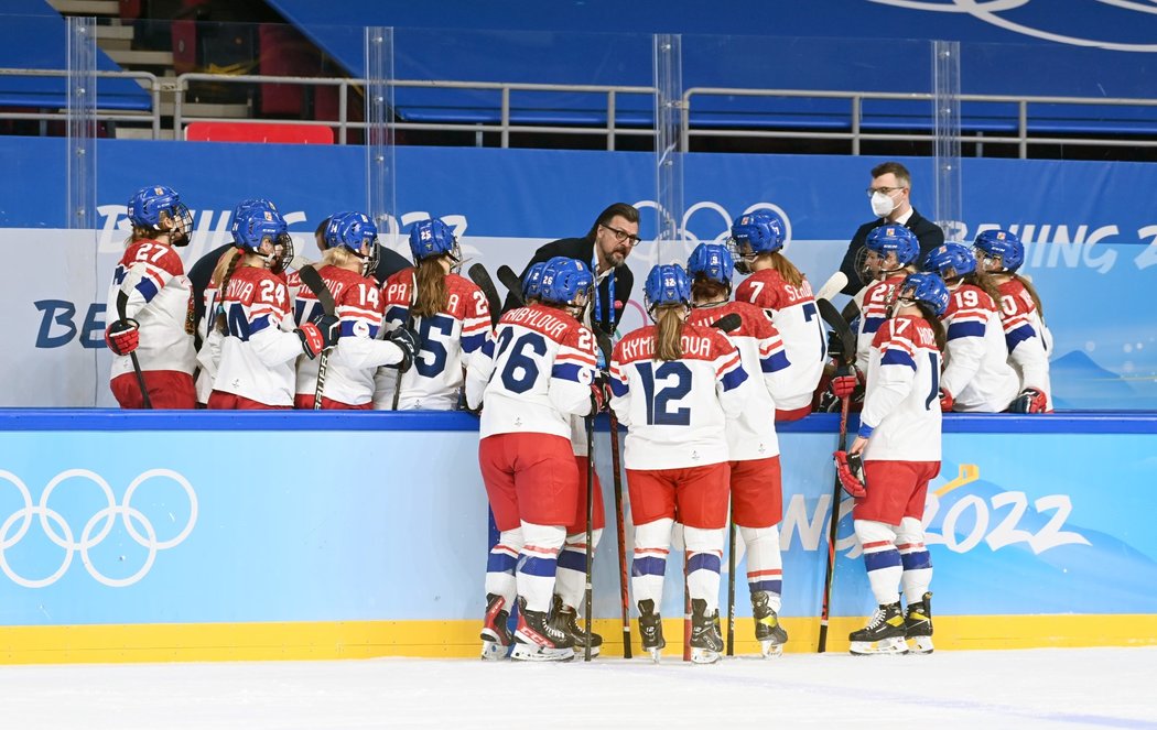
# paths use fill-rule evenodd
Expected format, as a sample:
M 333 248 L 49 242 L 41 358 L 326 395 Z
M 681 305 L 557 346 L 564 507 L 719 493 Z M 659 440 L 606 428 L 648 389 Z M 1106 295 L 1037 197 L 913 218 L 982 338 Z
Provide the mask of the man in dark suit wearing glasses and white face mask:
M 840 264 L 840 271 L 848 278 L 842 292 L 848 295 L 855 295 L 864 287 L 858 266 L 864 256 L 864 242 L 872 229 L 887 223 L 906 227 L 920 242 L 918 260 L 922 260 L 929 251 L 944 243 L 944 231 L 941 227 L 912 207 L 912 175 L 906 167 L 899 162 L 884 162 L 872 168 L 871 178 L 867 192 L 871 200 L 871 212 L 877 217 L 856 230 Z

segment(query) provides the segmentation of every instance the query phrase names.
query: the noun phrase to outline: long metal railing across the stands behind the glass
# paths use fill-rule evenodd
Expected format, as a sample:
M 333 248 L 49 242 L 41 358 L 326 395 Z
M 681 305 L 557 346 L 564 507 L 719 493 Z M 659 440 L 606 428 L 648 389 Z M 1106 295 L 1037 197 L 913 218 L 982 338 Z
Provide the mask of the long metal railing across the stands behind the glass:
M 0 76 L 66 76 L 64 71 L 37 71 L 22 68 L 0 68 Z M 312 126 L 327 126 L 337 131 L 338 143 L 348 142 L 351 130 L 363 130 L 364 121 L 352 120 L 349 118 L 351 89 L 360 89 L 364 80 L 342 78 L 307 78 L 307 76 L 261 76 L 261 75 L 222 75 L 205 73 L 186 73 L 176 78 L 157 78 L 146 72 L 97 72 L 98 78 L 120 76 L 138 80 L 152 96 L 153 108 L 149 111 L 127 112 L 100 109 L 97 102 L 97 119 L 100 121 L 126 121 L 147 123 L 152 128 L 153 139 L 162 137 L 164 128 L 161 113 L 162 95 L 172 96 L 172 120 L 167 128 L 172 131 L 176 139 L 182 139 L 185 126 L 189 121 L 228 121 L 230 124 L 260 123 L 268 124 L 267 119 L 235 119 L 221 118 L 204 115 L 191 115 L 187 112 L 189 102 L 186 95 L 191 83 L 248 83 L 248 84 L 294 84 L 311 87 L 337 87 L 338 88 L 338 118 L 331 120 L 294 120 L 294 124 Z M 546 83 L 501 83 L 479 81 L 411 81 L 395 80 L 390 82 L 396 89 L 400 88 L 423 88 L 423 89 L 455 89 L 469 91 L 498 93 L 496 118 L 494 121 L 395 121 L 395 130 L 420 130 L 439 132 L 471 132 L 480 135 L 486 132 L 498 133 L 500 146 L 510 146 L 511 133 L 548 133 L 548 134 L 599 134 L 605 137 L 606 149 L 616 148 L 616 139 L 619 135 L 654 137 L 655 131 L 648 126 L 622 126 L 618 121 L 619 97 L 625 95 L 653 96 L 655 89 L 640 86 L 584 86 L 584 84 L 546 84 Z M 517 120 L 517 112 L 511 109 L 510 95 L 513 93 L 551 93 L 551 94 L 590 94 L 605 98 L 600 109 L 600 116 L 605 115 L 605 124 L 526 124 Z M 810 98 L 810 99 L 842 99 L 846 101 L 847 112 L 839 115 L 843 128 L 831 131 L 821 128 L 783 128 L 789 125 L 780 125 L 776 128 L 774 120 L 761 124 L 765 128 L 737 127 L 730 125 L 716 125 L 715 128 L 705 125 L 694 125 L 693 108 L 697 102 L 706 97 L 780 97 L 780 98 Z M 931 103 L 933 95 L 929 94 L 894 94 L 894 93 L 867 93 L 867 91 L 820 91 L 798 89 L 731 89 L 731 88 L 692 88 L 684 93 L 684 149 L 691 148 L 692 138 L 751 138 L 751 139 L 808 139 L 808 140 L 838 140 L 847 141 L 850 145 L 852 154 L 861 154 L 864 141 L 931 141 L 931 132 L 905 131 L 902 128 L 868 131 L 864 128 L 865 121 L 871 121 L 871 116 L 864 115 L 865 102 L 927 102 Z M 1100 147 L 1144 147 L 1157 148 L 1157 123 L 1152 124 L 1152 130 L 1138 132 L 1135 137 L 1122 139 L 1120 135 L 1084 131 L 1067 137 L 1044 137 L 1030 134 L 1030 123 L 1033 117 L 1030 112 L 1033 106 L 1040 105 L 1073 105 L 1073 106 L 1128 106 L 1128 108 L 1157 108 L 1157 99 L 1141 98 L 1088 98 L 1088 97 L 1064 97 L 1064 96 L 996 96 L 996 95 L 961 95 L 963 104 L 973 102 L 1007 104 L 1016 108 L 1016 118 L 1011 115 L 1008 121 L 996 125 L 1008 130 L 1004 133 L 997 131 L 994 134 L 981 132 L 961 133 L 960 142 L 974 143 L 980 148 L 988 143 L 1016 145 L 1019 156 L 1027 157 L 1030 146 L 1034 145 L 1078 145 Z M 1157 115 L 1155 115 L 1157 117 Z M 0 110 L 0 119 L 31 119 L 31 120 L 56 120 L 65 119 L 64 111 L 53 110 L 44 112 L 9 112 Z M 834 117 L 833 117 L 834 119 Z M 1036 118 L 1038 121 L 1041 118 Z M 930 127 L 931 115 L 928 115 Z M 876 123 L 877 126 L 878 123 Z M 902 124 L 898 124 L 902 127 Z M 1089 127 L 1095 128 L 1096 124 L 1090 121 Z M 479 141 L 479 143 L 481 143 Z

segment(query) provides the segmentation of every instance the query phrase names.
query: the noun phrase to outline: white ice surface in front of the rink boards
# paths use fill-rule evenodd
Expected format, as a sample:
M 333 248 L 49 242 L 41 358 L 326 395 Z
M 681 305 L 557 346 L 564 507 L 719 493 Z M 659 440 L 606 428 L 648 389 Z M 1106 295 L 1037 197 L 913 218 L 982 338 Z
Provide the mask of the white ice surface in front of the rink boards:
M 1155 728 L 1157 647 L 0 666 L 0 728 Z

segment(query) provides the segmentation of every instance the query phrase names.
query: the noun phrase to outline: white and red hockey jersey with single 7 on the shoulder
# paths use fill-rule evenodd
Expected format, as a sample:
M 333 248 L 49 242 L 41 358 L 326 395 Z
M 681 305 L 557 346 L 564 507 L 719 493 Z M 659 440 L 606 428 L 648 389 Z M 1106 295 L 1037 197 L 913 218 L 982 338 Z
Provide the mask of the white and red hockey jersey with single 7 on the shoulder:
M 827 357 L 827 335 L 811 285 L 804 279 L 802 285 L 794 287 L 780 272 L 765 268 L 736 287 L 735 298 L 762 309 L 783 340 L 790 364 L 784 374 L 784 392 L 776 399 L 775 407 L 795 411 L 810 406 Z

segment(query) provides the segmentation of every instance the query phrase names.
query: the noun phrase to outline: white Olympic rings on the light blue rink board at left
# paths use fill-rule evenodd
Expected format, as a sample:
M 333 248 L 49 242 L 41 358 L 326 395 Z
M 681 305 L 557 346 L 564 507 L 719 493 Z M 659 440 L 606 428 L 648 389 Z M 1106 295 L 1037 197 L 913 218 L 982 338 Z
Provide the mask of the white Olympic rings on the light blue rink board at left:
M 65 480 L 73 478 L 89 479 L 93 484 L 100 487 L 109 504 L 108 507 L 98 509 L 96 514 L 88 519 L 83 530 L 81 530 L 79 540 L 64 515 L 49 507 L 49 499 L 52 496 L 52 492 L 57 488 L 57 486 Z M 170 479 L 184 489 L 185 495 L 189 497 L 189 522 L 176 537 L 168 540 L 159 540 L 153 523 L 145 516 L 143 513 L 132 507 L 133 495 L 137 494 L 137 489 L 150 479 Z M 5 575 L 12 578 L 13 582 L 25 588 L 44 588 L 56 583 L 65 573 L 68 572 L 68 568 L 72 566 L 73 558 L 78 552 L 80 553 L 84 568 L 88 570 L 89 575 L 97 580 L 97 582 L 111 588 L 125 588 L 126 585 L 132 585 L 148 574 L 156 560 L 157 552 L 179 545 L 186 537 L 189 537 L 189 533 L 193 531 L 193 525 L 197 524 L 197 494 L 193 492 L 193 486 L 189 484 L 189 480 L 182 474 L 169 469 L 152 469 L 141 473 L 132 481 L 132 484 L 128 485 L 128 489 L 125 491 L 123 503 L 117 503 L 117 499 L 112 493 L 112 487 L 109 486 L 109 482 L 105 481 L 103 477 L 87 469 L 69 469 L 53 477 L 47 486 L 44 487 L 44 493 L 40 495 L 38 504 L 32 503 L 31 492 L 29 492 L 28 486 L 24 485 L 20 477 L 13 474 L 12 472 L 0 470 L 0 480 L 7 481 L 16 487 L 24 502 L 23 508 L 14 511 L 3 521 L 2 524 L 0 524 L 0 569 L 2 569 Z M 93 560 L 89 555 L 90 550 L 100 545 L 106 537 L 109 537 L 109 533 L 117 523 L 117 517 L 121 518 L 125 531 L 128 536 L 138 545 L 148 550 L 145 563 L 137 570 L 137 573 L 125 578 L 113 578 L 104 575 L 95 565 L 93 565 Z M 60 567 L 57 568 L 56 573 L 43 578 L 28 578 L 20 575 L 9 565 L 8 556 L 6 554 L 13 546 L 20 543 L 24 536 L 28 534 L 32 526 L 34 518 L 39 518 L 40 529 L 44 530 L 44 534 L 47 536 L 54 545 L 64 548 L 65 551 L 64 560 L 61 561 Z

